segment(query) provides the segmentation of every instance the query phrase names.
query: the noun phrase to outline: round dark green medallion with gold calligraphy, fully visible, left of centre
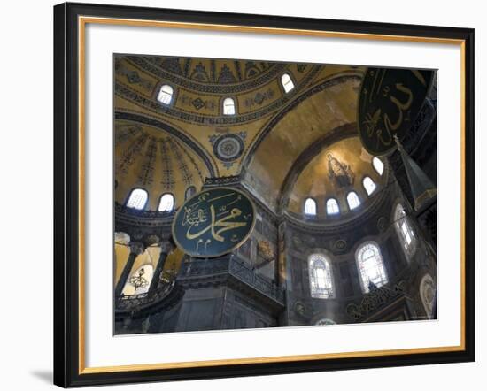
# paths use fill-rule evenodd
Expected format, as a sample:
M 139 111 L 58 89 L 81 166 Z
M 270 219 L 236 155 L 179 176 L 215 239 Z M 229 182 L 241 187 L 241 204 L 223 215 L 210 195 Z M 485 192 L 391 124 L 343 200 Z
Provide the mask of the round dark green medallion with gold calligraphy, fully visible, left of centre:
M 220 257 L 243 244 L 255 225 L 251 200 L 235 188 L 209 188 L 191 197 L 173 221 L 174 242 L 192 257 Z

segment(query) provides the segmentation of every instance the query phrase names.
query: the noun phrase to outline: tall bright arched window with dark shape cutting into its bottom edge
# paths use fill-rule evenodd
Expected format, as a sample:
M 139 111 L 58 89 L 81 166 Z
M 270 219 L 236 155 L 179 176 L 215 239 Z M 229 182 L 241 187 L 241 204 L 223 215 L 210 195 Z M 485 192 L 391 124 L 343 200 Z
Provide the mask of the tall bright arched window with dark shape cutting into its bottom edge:
M 357 265 L 359 267 L 360 282 L 362 290 L 367 293 L 369 284 L 375 287 L 382 287 L 387 284 L 387 275 L 383 265 L 381 250 L 375 242 L 366 242 L 362 244 L 355 254 Z

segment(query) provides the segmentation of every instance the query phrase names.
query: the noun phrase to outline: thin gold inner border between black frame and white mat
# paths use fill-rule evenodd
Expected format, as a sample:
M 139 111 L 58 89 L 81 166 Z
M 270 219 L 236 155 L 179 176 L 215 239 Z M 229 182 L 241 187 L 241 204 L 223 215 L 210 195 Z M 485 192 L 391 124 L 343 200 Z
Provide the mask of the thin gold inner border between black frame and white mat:
M 458 346 L 442 346 L 431 348 L 412 348 L 412 349 L 387 349 L 387 350 L 367 350 L 367 351 L 353 351 L 341 353 L 324 353 L 313 355 L 298 355 L 298 356 L 279 356 L 279 357 L 251 357 L 251 358 L 231 358 L 220 360 L 206 360 L 206 361 L 190 361 L 190 362 L 169 362 L 158 364 L 130 364 L 130 365 L 113 365 L 113 366 L 85 366 L 85 254 L 84 254 L 84 229 L 85 229 L 85 215 L 84 215 L 84 184 L 85 184 L 85 30 L 87 24 L 102 24 L 102 25 L 119 25 L 132 27 L 164 27 L 164 28 L 183 28 L 193 30 L 211 30 L 211 31 L 225 31 L 225 32 L 239 32 L 239 33 L 260 33 L 273 35 L 303 35 L 313 37 L 327 37 L 327 38 L 344 38 L 344 39 L 363 39 L 371 41 L 392 41 L 392 42 L 421 42 L 421 43 L 440 43 L 460 46 L 460 171 L 461 171 L 461 201 L 460 201 L 460 345 Z M 437 37 L 421 37 L 408 35 L 377 35 L 365 33 L 346 33 L 334 31 L 321 30 L 306 30 L 306 29 L 292 29 L 292 28 L 276 28 L 276 27 L 251 27 L 251 26 L 235 26 L 235 25 L 217 25 L 210 23 L 189 23 L 189 22 L 174 22 L 164 20 L 142 20 L 142 19 L 118 19 L 118 18 L 99 18 L 99 17 L 78 17 L 78 83 L 79 83 L 79 100 L 78 100 L 78 114 L 79 114 L 79 150 L 78 163 L 79 171 L 79 324 L 78 324 L 78 373 L 104 373 L 104 372 L 130 372 L 130 371 L 150 371 L 163 370 L 175 368 L 196 368 L 196 367 L 213 367 L 219 365 L 242 365 L 242 364 L 269 364 L 269 363 L 284 363 L 292 361 L 310 361 L 323 360 L 333 358 L 352 358 L 352 357 L 378 357 L 378 356 L 392 356 L 392 355 L 410 355 L 410 354 L 428 354 L 440 352 L 455 352 L 465 350 L 465 96 L 466 96 L 466 56 L 465 44 L 461 39 L 437 38 Z

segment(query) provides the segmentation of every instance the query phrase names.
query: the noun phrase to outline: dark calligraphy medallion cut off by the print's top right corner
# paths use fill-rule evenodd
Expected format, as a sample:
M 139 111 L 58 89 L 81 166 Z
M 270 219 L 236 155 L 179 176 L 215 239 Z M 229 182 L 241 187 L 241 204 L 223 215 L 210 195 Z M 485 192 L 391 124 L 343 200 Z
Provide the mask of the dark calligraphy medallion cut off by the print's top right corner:
M 367 68 L 359 93 L 359 134 L 372 155 L 396 148 L 428 96 L 433 71 Z

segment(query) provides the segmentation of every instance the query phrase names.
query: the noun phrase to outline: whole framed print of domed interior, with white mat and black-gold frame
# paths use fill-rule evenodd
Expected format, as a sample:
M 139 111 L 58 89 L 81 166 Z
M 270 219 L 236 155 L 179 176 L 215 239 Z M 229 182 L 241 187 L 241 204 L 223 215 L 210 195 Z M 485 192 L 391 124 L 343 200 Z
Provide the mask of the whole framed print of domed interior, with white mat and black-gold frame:
M 474 37 L 55 6 L 55 384 L 473 361 Z

